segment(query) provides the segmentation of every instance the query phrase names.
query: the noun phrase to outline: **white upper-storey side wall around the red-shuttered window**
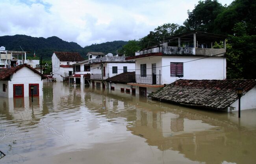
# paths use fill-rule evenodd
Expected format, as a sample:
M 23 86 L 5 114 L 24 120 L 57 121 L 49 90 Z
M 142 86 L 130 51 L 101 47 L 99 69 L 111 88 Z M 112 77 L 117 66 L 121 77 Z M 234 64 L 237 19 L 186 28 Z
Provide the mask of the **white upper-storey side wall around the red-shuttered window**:
M 162 57 L 162 84 L 173 83 L 178 79 L 226 79 L 226 58 L 224 57 L 177 57 L 177 56 L 163 56 Z M 197 60 L 200 59 L 200 60 Z M 196 60 L 196 61 L 192 61 Z M 191 61 L 188 63 L 184 63 Z M 170 63 L 181 62 L 183 65 L 184 77 L 171 77 Z

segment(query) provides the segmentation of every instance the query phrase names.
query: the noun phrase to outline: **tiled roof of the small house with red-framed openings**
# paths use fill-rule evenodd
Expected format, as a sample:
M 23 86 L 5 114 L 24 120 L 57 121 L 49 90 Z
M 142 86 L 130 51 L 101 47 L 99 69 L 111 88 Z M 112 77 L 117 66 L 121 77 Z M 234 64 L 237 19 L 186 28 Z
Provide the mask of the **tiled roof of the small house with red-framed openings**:
M 15 66 L 13 68 L 9 68 L 9 69 L 4 69 L 2 71 L 0 71 L 0 80 L 9 80 L 9 77 L 16 73 L 18 70 L 22 69 L 23 67 L 27 67 L 30 70 L 32 70 L 33 72 L 39 74 L 42 79 L 46 79 L 47 77 L 44 76 L 43 74 L 41 74 L 40 72 L 38 72 L 37 70 L 35 70 L 34 68 L 32 68 L 31 66 L 27 65 L 27 64 L 21 64 L 18 66 Z

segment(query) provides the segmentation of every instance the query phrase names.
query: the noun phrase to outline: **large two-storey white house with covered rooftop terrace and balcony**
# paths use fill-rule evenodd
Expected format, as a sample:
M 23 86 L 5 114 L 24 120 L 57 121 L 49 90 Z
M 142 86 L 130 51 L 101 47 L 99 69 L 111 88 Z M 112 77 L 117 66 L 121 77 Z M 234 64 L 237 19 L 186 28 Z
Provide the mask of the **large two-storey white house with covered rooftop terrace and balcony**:
M 148 96 L 178 79 L 226 79 L 226 36 L 190 31 L 167 42 L 143 49 L 126 60 L 135 60 L 136 94 Z M 223 41 L 223 48 L 214 42 Z

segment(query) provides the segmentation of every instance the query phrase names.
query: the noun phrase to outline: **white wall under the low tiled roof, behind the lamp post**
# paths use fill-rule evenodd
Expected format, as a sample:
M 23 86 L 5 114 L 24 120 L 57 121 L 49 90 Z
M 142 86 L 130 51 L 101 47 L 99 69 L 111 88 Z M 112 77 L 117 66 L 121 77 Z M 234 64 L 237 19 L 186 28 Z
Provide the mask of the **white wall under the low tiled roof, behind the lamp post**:
M 234 107 L 232 111 L 238 111 L 238 100 L 230 105 Z M 256 87 L 252 88 L 245 95 L 241 97 L 241 110 L 256 109 Z M 230 112 L 230 109 L 228 109 Z

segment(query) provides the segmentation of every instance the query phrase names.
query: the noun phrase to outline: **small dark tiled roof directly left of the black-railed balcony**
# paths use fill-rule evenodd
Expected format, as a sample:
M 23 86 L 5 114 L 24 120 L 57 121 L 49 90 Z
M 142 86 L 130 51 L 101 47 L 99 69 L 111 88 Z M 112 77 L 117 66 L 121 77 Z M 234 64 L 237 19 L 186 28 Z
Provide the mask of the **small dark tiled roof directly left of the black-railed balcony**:
M 135 72 L 124 72 L 116 76 L 106 79 L 106 81 L 112 81 L 112 83 L 135 83 Z

